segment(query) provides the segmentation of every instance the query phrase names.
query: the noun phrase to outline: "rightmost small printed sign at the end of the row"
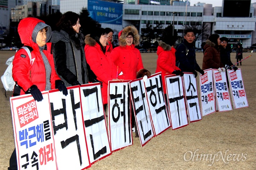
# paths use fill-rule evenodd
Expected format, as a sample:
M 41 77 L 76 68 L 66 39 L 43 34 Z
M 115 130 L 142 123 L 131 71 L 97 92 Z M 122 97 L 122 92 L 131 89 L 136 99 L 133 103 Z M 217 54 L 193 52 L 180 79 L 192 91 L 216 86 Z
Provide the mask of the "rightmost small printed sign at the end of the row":
M 228 79 L 230 82 L 230 93 L 232 94 L 234 108 L 248 107 L 247 97 L 244 90 L 241 69 L 228 70 Z

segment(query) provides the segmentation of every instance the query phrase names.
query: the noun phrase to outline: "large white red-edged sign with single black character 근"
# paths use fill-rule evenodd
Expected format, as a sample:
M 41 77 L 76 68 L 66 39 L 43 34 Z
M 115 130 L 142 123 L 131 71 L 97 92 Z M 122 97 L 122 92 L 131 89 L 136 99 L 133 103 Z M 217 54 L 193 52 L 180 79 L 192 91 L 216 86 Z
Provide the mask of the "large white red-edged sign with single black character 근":
M 80 86 L 82 115 L 90 162 L 111 155 L 100 83 Z

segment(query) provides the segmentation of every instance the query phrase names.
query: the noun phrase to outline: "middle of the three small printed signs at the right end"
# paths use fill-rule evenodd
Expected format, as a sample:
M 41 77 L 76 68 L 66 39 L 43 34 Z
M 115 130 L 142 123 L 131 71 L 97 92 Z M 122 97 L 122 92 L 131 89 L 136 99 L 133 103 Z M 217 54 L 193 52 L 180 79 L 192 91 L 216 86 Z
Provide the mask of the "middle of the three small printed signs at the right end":
M 226 72 L 221 71 L 220 73 L 217 69 L 213 69 L 213 80 L 218 111 L 231 111 L 232 105 L 228 93 Z

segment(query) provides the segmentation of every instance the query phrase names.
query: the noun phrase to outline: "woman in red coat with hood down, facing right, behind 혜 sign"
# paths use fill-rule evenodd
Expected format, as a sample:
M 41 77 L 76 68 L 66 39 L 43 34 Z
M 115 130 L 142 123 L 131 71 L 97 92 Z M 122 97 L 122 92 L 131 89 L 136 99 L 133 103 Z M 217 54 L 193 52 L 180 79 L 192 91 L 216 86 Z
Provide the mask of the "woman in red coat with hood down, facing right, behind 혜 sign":
M 104 28 L 97 28 L 92 34 L 85 36 L 85 57 L 91 70 L 102 82 L 104 108 L 108 103 L 108 81 L 116 79 L 116 67 L 108 51 L 108 37 Z

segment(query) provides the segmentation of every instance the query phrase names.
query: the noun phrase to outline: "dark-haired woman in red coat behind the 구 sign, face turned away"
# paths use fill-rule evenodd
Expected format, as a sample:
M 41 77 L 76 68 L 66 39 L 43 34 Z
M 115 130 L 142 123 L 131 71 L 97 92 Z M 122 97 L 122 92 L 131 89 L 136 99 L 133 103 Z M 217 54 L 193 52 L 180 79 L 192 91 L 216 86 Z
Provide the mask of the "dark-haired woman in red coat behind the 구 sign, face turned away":
M 165 41 L 165 42 L 163 42 Z M 165 76 L 176 74 L 183 76 L 183 72 L 176 66 L 175 48 L 171 47 L 171 41 L 163 39 L 157 47 L 157 68 L 156 73 L 161 72 L 163 91 L 166 94 Z

